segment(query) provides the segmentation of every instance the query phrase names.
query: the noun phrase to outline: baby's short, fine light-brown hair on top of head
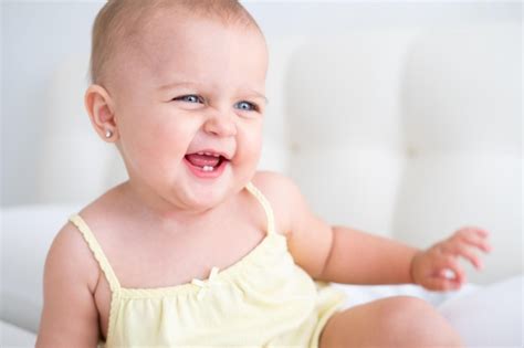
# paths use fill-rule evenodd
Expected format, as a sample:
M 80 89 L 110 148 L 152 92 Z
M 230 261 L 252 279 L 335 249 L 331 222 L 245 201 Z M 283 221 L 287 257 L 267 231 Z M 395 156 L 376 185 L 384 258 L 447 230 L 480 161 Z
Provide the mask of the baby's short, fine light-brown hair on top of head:
M 90 82 L 107 78 L 107 65 L 117 50 L 126 50 L 146 24 L 145 19 L 159 10 L 175 10 L 186 15 L 260 28 L 238 0 L 108 0 L 96 15 L 92 32 Z

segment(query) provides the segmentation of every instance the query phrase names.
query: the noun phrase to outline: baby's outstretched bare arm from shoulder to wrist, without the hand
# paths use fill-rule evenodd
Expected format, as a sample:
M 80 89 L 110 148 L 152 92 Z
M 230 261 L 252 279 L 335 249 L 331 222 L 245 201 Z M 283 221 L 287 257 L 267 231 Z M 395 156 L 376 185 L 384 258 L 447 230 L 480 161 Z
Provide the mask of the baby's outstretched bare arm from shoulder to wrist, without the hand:
M 336 283 L 410 282 L 416 249 L 348 228 L 332 228 L 314 214 L 296 184 L 272 172 L 254 180 L 274 205 L 277 226 L 297 265 L 313 278 Z

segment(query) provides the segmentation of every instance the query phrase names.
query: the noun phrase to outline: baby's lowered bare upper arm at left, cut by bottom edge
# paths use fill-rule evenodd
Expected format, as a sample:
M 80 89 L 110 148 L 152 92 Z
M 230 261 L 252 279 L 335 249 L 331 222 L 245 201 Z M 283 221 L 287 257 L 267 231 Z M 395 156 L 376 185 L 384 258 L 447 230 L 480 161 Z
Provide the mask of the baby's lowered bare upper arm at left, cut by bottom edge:
M 44 304 L 36 347 L 96 347 L 96 264 L 71 224 L 56 235 L 44 270 Z

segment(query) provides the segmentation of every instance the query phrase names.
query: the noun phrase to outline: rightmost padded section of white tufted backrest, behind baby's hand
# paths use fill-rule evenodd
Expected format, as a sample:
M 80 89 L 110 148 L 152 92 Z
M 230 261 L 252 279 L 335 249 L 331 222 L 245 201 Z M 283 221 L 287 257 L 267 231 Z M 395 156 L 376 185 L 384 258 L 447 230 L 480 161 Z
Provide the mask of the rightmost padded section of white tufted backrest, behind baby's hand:
M 411 156 L 398 187 L 394 235 L 428 246 L 462 225 L 492 232 L 474 282 L 523 272 L 522 88 L 518 25 L 420 35 L 402 86 Z

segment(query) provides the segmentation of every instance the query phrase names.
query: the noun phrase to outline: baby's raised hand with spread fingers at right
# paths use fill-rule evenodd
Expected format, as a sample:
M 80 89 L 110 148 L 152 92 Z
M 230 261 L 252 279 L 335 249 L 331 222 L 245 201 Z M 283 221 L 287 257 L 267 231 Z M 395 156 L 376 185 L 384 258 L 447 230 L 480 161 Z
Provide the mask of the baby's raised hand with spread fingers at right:
M 476 270 L 482 268 L 474 249 L 490 252 L 489 233 L 478 228 L 463 228 L 452 236 L 415 255 L 411 262 L 411 277 L 431 291 L 459 289 L 465 282 L 464 271 L 458 257 L 468 259 Z

